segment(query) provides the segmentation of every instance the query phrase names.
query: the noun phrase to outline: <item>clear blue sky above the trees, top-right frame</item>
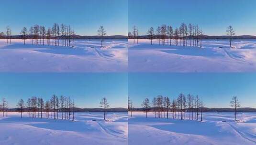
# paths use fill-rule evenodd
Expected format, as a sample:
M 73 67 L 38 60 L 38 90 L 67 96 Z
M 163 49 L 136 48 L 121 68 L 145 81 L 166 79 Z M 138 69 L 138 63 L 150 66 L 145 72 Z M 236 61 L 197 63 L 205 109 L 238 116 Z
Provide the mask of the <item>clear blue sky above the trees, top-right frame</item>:
M 136 25 L 144 35 L 161 24 L 198 24 L 206 35 L 256 35 L 256 0 L 129 0 L 129 31 Z

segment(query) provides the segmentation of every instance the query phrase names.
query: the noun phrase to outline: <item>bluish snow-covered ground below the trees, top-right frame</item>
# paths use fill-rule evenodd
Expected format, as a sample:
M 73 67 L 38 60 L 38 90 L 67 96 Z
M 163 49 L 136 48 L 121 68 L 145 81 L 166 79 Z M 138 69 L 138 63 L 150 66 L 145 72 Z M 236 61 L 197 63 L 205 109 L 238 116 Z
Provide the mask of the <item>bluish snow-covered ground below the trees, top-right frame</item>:
M 202 48 L 168 43 L 129 40 L 129 72 L 256 72 L 256 40 L 233 40 L 232 49 L 229 40 L 203 40 Z

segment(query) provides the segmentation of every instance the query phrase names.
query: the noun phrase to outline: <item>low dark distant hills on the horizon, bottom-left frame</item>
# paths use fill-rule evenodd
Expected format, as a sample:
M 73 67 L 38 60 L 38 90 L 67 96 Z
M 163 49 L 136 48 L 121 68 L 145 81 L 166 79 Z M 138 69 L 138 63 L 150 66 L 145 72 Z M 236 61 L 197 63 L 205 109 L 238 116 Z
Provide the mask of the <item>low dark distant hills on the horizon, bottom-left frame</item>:
M 73 110 L 71 108 L 71 110 Z M 18 108 L 12 108 L 12 109 L 8 109 L 8 111 L 19 111 Z M 24 111 L 28 111 L 28 108 L 24 108 Z M 102 108 L 74 108 L 75 112 L 102 112 L 104 111 L 104 109 Z M 107 109 L 108 112 L 127 112 L 127 108 L 108 108 Z

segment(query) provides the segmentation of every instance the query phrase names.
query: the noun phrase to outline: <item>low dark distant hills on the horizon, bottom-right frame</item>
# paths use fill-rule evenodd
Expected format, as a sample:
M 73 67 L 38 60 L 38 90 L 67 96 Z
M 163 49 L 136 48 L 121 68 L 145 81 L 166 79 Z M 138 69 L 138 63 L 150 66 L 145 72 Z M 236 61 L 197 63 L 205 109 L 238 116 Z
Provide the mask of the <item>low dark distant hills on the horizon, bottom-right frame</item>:
M 200 108 L 199 108 L 200 109 Z M 144 111 L 143 108 L 134 108 L 133 111 Z M 153 111 L 153 108 L 150 108 L 150 111 Z M 171 111 L 171 109 L 170 109 Z M 202 109 L 203 112 L 233 112 L 234 108 L 207 108 L 203 107 Z M 238 112 L 256 112 L 256 108 L 238 108 Z

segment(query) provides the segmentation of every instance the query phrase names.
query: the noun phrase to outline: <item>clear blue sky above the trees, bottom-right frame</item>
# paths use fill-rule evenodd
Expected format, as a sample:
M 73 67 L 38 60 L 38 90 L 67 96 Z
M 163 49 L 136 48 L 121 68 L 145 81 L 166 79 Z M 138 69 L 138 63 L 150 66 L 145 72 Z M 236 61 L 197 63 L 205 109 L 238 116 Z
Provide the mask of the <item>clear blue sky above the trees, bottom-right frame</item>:
M 129 73 L 129 97 L 141 107 L 148 97 L 157 95 L 172 100 L 179 93 L 202 97 L 206 107 L 230 107 L 237 96 L 242 107 L 256 108 L 256 73 Z

